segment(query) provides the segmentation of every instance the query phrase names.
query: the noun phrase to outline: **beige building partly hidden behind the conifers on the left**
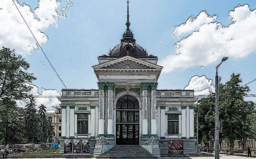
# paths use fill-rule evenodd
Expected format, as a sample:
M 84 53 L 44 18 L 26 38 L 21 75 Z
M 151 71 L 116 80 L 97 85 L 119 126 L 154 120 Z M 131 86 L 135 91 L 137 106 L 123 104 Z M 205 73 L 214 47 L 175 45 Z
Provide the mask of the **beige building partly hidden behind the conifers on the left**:
M 55 107 L 55 112 L 46 113 L 48 119 L 52 121 L 52 126 L 54 128 L 55 136 L 52 140 L 56 143 L 60 143 L 61 134 L 61 123 L 62 123 L 62 116 L 61 116 L 61 107 Z

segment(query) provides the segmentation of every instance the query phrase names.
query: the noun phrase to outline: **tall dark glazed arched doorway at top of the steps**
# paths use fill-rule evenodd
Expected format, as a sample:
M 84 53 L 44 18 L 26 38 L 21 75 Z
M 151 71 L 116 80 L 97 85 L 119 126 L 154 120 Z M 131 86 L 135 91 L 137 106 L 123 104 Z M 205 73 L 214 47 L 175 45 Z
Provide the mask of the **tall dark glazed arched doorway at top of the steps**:
M 139 145 L 139 102 L 123 96 L 116 103 L 116 144 Z

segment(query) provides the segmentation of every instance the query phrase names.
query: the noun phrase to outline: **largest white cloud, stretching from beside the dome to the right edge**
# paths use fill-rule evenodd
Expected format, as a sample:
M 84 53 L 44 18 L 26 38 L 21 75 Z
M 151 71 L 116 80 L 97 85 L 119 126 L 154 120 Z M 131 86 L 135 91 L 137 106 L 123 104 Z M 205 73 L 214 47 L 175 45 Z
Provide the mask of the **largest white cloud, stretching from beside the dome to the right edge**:
M 196 24 L 194 21 L 199 16 L 175 27 L 173 34 L 190 35 L 175 43 L 176 55 L 169 55 L 160 61 L 160 65 L 164 66 L 162 73 L 179 68 L 207 66 L 224 56 L 241 58 L 256 52 L 256 9 L 250 10 L 247 4 L 235 7 L 229 12 L 232 22 L 228 26 L 217 21 L 209 22 L 216 16 L 209 16 L 205 11 L 200 14 L 204 18 L 201 17 L 201 21 Z

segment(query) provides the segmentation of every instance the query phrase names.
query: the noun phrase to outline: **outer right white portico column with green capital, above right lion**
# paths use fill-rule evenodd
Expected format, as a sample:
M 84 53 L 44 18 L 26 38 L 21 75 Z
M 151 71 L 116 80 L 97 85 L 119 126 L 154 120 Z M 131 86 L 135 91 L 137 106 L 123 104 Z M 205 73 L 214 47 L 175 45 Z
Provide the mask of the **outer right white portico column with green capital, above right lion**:
M 156 87 L 158 83 L 150 83 L 151 87 L 151 135 L 157 134 L 157 126 L 156 126 Z

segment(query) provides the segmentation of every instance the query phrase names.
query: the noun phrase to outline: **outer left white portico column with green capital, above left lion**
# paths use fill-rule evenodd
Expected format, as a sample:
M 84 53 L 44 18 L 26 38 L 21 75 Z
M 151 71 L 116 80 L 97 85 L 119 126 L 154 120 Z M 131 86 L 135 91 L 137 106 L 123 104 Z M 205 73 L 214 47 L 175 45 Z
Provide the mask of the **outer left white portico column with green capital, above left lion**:
M 104 111 L 104 88 L 105 83 L 98 83 L 99 87 L 99 120 L 98 120 L 98 135 L 105 135 L 105 111 Z

